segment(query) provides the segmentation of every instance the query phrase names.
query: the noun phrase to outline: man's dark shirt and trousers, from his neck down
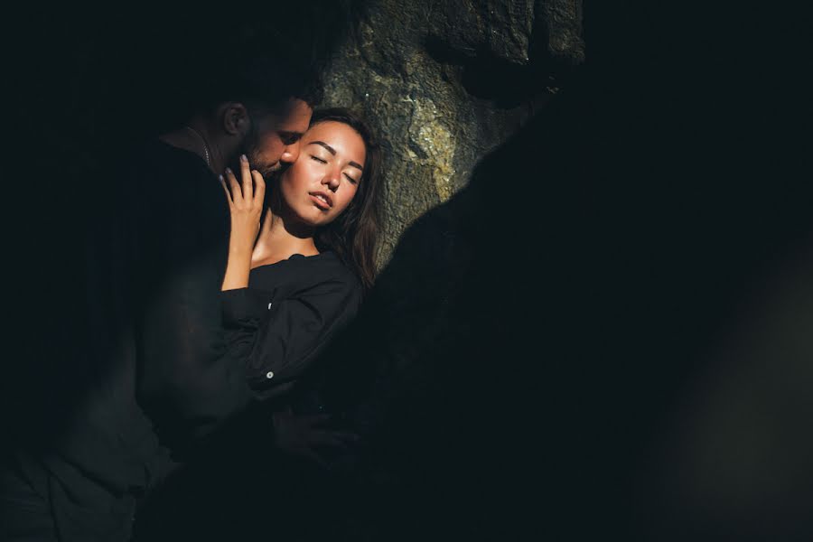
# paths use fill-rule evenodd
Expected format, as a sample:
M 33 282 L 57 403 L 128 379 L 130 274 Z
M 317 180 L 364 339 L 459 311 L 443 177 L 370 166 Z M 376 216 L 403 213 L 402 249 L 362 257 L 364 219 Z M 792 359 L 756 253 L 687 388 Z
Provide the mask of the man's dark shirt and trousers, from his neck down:
M 135 500 L 238 413 L 236 425 L 267 428 L 253 446 L 273 443 L 268 420 L 247 421 L 261 415 L 239 361 L 249 344 L 223 332 L 242 320 L 222 321 L 239 294 L 219 294 L 229 210 L 217 178 L 160 141 L 107 177 L 110 206 L 91 219 L 88 336 L 37 382 L 48 389 L 32 395 L 51 404 L 14 442 L 0 488 L 14 513 L 33 487 L 61 540 L 126 540 Z

